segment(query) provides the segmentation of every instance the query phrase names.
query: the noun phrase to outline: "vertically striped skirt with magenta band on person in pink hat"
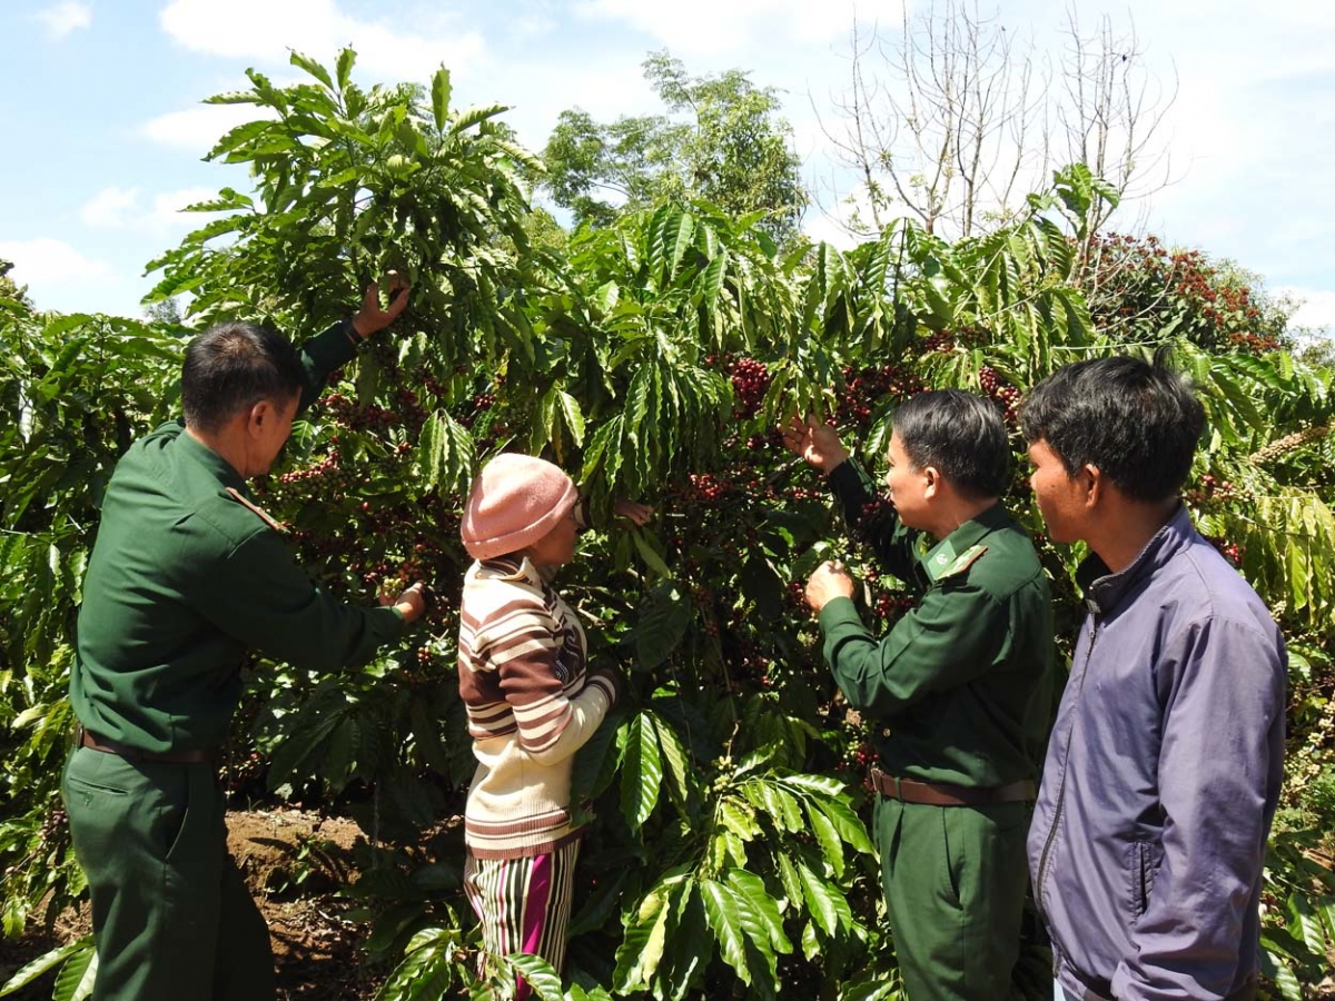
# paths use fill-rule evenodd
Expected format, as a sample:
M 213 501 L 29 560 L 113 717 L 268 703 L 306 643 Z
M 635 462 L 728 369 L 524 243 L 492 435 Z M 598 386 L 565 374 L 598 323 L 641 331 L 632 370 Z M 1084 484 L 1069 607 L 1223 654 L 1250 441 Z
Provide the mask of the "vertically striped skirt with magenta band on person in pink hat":
M 463 889 L 482 924 L 482 944 L 493 956 L 530 953 L 561 972 L 574 890 L 579 838 L 533 858 L 474 858 L 463 866 Z M 517 1001 L 529 997 L 518 980 Z

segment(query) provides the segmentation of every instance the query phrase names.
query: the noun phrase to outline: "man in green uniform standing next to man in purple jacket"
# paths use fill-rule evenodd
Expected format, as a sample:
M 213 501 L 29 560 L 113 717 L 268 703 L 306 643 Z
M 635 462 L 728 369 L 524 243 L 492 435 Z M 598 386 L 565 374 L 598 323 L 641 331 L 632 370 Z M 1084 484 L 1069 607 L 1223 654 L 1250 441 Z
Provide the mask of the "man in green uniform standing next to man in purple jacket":
M 849 526 L 872 529 L 885 569 L 921 590 L 877 638 L 842 565 L 806 585 L 834 679 L 880 729 L 876 837 L 909 1001 L 1000 1001 L 1020 950 L 1055 658 L 1047 577 L 997 503 L 1005 426 L 957 390 L 901 406 L 886 476 L 894 510 L 874 519 L 873 484 L 832 427 L 794 422 L 786 439 L 825 471 Z

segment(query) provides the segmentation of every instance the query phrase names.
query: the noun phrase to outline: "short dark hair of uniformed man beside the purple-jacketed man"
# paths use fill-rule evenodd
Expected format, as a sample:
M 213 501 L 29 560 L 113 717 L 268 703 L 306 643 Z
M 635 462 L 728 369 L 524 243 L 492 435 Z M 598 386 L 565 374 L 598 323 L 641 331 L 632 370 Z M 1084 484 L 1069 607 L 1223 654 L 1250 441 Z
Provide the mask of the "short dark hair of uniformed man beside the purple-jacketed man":
M 934 466 L 967 498 L 1005 490 L 1011 446 L 991 400 L 963 390 L 921 392 L 894 411 L 894 432 L 913 468 Z

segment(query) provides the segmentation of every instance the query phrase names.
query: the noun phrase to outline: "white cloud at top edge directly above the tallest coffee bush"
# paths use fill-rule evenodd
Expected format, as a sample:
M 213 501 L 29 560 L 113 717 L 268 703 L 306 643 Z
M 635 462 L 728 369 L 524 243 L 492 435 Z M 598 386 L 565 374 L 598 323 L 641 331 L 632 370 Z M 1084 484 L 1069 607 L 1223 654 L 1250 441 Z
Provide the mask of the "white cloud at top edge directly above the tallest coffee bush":
M 338 49 L 356 49 L 358 65 L 375 79 L 426 81 L 445 63 L 467 75 L 486 45 L 439 13 L 400 11 L 390 21 L 360 20 L 336 0 L 174 0 L 159 15 L 180 45 L 215 56 L 286 63 L 295 49 L 328 64 Z

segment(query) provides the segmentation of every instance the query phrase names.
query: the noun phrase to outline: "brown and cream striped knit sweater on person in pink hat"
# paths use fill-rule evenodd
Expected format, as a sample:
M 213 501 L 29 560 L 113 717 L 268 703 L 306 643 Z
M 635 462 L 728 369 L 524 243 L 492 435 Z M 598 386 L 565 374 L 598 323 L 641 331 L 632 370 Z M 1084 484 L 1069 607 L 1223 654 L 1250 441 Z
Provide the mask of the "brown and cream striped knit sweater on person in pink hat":
M 463 577 L 459 694 L 478 770 L 465 841 L 477 858 L 566 844 L 574 753 L 611 709 L 609 674 L 585 671 L 585 634 L 529 559 L 474 563 Z

